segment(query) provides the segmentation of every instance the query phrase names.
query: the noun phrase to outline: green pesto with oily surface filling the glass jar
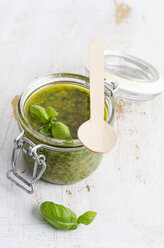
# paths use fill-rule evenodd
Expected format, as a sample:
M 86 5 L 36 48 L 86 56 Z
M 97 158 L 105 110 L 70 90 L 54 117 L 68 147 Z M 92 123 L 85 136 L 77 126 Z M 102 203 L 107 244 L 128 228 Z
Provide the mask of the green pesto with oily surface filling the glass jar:
M 67 125 L 73 139 L 76 139 L 78 127 L 89 119 L 89 101 L 87 88 L 66 82 L 54 83 L 29 96 L 24 106 L 24 115 L 28 123 L 38 130 L 41 124 L 31 117 L 30 105 L 37 104 L 44 108 L 51 106 L 58 112 L 57 120 Z M 104 119 L 107 111 L 105 107 Z M 40 143 L 28 133 L 25 133 L 25 136 L 35 144 Z M 102 158 L 102 155 L 86 148 L 76 151 L 39 149 L 38 153 L 46 156 L 47 167 L 42 179 L 56 184 L 70 184 L 89 176 L 98 167 Z M 33 169 L 34 160 L 27 153 L 24 157 L 27 166 Z

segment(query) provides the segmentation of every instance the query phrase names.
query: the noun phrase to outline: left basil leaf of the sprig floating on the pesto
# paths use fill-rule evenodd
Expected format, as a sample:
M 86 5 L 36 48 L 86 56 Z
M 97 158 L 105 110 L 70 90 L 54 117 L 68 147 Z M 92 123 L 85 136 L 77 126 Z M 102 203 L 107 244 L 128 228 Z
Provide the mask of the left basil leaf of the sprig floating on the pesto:
M 30 114 L 33 118 L 35 118 L 36 120 L 38 120 L 40 123 L 47 123 L 49 121 L 49 116 L 46 112 L 46 110 L 36 104 L 32 104 L 30 106 Z

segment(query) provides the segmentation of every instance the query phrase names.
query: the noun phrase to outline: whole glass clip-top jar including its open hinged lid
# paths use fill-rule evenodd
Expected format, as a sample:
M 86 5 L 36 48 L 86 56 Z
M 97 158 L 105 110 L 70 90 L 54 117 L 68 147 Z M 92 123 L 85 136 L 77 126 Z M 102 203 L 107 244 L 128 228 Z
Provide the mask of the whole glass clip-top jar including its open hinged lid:
M 88 70 L 87 62 L 85 68 Z M 111 125 L 114 120 L 113 94 L 128 100 L 146 101 L 164 91 L 163 78 L 154 66 L 117 51 L 104 51 L 104 81 L 106 121 Z M 89 89 L 88 77 L 69 73 L 51 74 L 34 80 L 18 102 L 18 126 L 21 134 L 14 142 L 12 169 L 7 172 L 7 177 L 28 193 L 33 193 L 33 185 L 40 178 L 56 184 L 70 184 L 81 180 L 98 167 L 102 158 L 101 154 L 87 150 L 78 139 L 68 142 L 47 137 L 27 122 L 24 108 L 31 94 L 46 85 L 60 82 Z M 20 152 L 26 166 L 33 171 L 30 181 L 18 173 Z

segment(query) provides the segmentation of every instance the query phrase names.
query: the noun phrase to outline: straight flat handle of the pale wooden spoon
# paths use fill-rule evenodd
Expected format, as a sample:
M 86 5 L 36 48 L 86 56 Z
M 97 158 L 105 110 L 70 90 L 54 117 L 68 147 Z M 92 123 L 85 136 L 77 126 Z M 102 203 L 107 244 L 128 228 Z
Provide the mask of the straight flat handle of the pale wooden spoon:
M 104 48 L 100 41 L 89 44 L 91 120 L 104 119 Z

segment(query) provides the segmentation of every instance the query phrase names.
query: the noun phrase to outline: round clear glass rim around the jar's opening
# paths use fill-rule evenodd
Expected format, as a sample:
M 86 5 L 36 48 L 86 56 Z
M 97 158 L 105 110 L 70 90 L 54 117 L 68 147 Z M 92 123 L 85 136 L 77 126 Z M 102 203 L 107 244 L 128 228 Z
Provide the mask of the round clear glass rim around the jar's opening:
M 39 142 L 48 144 L 50 146 L 57 146 L 57 147 L 83 147 L 82 143 L 79 139 L 73 139 L 71 141 L 68 140 L 61 140 L 61 139 L 55 139 L 53 137 L 45 136 L 38 131 L 36 131 L 26 120 L 24 116 L 24 104 L 26 103 L 26 100 L 29 98 L 29 96 L 35 92 L 35 90 L 38 90 L 39 88 L 42 88 L 48 84 L 52 83 L 60 83 L 60 82 L 70 82 L 72 83 L 78 83 L 81 84 L 81 87 L 85 87 L 89 89 L 89 78 L 83 75 L 74 74 L 74 73 L 56 73 L 56 74 L 47 74 L 41 77 L 38 77 L 37 79 L 33 80 L 29 87 L 23 91 L 21 94 L 19 101 L 18 101 L 18 124 L 20 129 L 24 129 L 27 133 L 32 135 L 34 138 L 39 140 Z M 105 96 L 110 99 L 111 102 L 111 113 L 108 113 L 107 123 L 111 123 L 114 118 L 114 102 L 113 98 L 110 95 L 109 88 L 105 86 Z M 107 109 L 109 112 L 109 109 Z

